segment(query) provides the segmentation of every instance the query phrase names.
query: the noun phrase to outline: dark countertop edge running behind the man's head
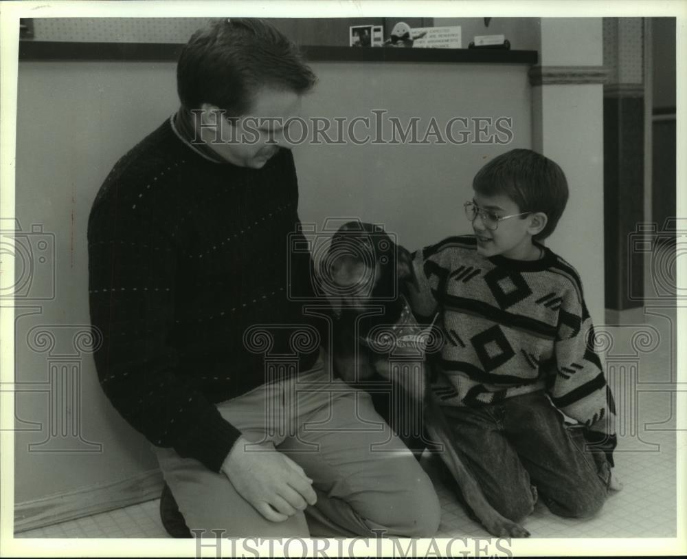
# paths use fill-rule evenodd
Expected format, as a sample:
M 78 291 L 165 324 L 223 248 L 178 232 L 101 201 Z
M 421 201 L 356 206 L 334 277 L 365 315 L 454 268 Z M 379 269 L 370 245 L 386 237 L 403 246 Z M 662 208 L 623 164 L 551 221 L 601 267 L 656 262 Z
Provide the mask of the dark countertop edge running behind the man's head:
M 176 61 L 180 43 L 75 43 L 19 41 L 20 61 Z M 537 64 L 537 51 L 412 49 L 394 47 L 301 47 L 309 61 Z

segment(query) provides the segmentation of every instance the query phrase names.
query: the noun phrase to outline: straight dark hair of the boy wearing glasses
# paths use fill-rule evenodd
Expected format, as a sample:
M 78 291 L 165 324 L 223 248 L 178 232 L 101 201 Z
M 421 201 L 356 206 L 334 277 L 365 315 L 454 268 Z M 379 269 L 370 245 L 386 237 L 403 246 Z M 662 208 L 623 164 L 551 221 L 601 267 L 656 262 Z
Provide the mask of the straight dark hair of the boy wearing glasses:
M 477 171 L 473 189 L 484 196 L 506 195 L 521 212 L 545 213 L 548 221 L 534 235 L 537 241 L 554 232 L 567 203 L 565 174 L 548 157 L 531 149 L 513 149 L 495 157 Z

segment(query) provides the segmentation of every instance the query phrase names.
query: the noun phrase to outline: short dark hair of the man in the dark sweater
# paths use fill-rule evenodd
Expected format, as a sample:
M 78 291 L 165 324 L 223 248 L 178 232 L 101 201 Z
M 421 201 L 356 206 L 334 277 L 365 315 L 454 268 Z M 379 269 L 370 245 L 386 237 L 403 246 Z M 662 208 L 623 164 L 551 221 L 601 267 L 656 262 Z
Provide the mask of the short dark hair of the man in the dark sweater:
M 315 74 L 297 45 L 260 19 L 219 19 L 196 31 L 177 64 L 177 91 L 186 109 L 205 102 L 239 117 L 265 85 L 304 94 Z

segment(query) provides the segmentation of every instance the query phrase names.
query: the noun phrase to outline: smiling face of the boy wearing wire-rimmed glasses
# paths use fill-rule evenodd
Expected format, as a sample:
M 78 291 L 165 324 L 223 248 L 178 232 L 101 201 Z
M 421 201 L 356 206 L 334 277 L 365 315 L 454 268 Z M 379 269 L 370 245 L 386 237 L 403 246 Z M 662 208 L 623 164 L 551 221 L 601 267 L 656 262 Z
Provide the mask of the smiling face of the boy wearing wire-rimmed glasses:
M 473 202 L 480 209 L 498 217 L 521 212 L 517 204 L 506 195 L 484 196 L 475 192 Z M 532 236 L 543 229 L 545 219 L 541 212 L 510 217 L 499 221 L 496 230 L 490 230 L 478 213 L 472 223 L 477 237 L 477 254 L 485 257 L 500 254 L 513 260 L 536 260 L 539 258 L 539 248 L 532 244 Z

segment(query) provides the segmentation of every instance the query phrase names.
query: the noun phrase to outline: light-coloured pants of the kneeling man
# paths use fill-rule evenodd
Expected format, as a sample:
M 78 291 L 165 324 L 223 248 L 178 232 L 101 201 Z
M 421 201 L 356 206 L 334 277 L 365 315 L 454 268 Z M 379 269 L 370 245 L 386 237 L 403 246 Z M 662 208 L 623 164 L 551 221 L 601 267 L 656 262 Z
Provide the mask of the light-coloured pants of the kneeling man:
M 310 371 L 217 404 L 255 443 L 270 441 L 313 479 L 313 536 L 430 537 L 440 506 L 429 477 L 372 407 L 370 395 L 330 375 L 326 353 Z M 164 479 L 190 529 L 221 537 L 308 536 L 302 512 L 263 518 L 223 473 L 155 448 Z M 319 532 L 315 534 L 315 531 Z

